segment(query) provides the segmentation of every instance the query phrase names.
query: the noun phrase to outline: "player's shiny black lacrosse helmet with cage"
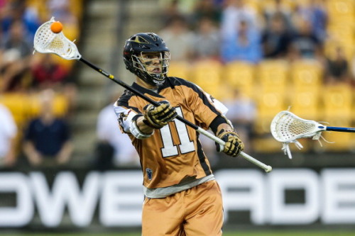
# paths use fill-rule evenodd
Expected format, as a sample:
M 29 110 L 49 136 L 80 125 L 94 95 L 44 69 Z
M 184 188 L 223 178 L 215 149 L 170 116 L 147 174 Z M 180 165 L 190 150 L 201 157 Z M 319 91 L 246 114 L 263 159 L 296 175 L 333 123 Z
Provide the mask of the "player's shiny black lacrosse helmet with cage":
M 149 73 L 147 65 L 142 60 L 144 52 L 160 52 L 159 73 Z M 124 64 L 126 69 L 136 74 L 148 84 L 159 86 L 163 84 L 168 74 L 170 62 L 170 50 L 165 46 L 165 42 L 155 33 L 136 33 L 132 35 L 124 45 Z M 156 67 L 156 66 L 155 66 Z

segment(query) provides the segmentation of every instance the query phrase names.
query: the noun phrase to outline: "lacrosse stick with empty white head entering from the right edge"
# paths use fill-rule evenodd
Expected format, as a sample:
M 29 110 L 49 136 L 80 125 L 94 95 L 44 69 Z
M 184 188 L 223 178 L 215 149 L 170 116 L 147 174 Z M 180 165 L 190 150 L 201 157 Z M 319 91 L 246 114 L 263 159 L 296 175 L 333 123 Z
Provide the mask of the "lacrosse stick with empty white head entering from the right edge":
M 275 140 L 283 142 L 282 150 L 285 154 L 288 154 L 290 159 L 292 159 L 289 147 L 291 142 L 295 143 L 298 149 L 301 149 L 302 145 L 297 139 L 312 137 L 313 140 L 319 140 L 323 131 L 355 133 L 355 128 L 322 125 L 314 120 L 299 118 L 290 111 L 280 111 L 271 122 L 271 134 Z

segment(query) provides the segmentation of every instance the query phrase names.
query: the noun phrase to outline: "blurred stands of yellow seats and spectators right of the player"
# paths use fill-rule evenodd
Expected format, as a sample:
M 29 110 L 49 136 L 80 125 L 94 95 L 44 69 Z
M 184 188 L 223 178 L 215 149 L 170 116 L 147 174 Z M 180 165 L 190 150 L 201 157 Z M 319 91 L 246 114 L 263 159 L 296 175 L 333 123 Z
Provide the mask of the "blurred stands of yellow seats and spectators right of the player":
M 170 48 L 170 75 L 190 79 L 223 101 L 247 152 L 280 150 L 270 135 L 270 123 L 288 106 L 302 118 L 354 125 L 354 1 L 169 0 L 160 4 L 164 26 L 158 34 Z M 354 138 L 346 140 L 330 148 L 349 151 Z M 213 145 L 208 139 L 205 142 Z M 307 150 L 310 145 L 305 146 Z

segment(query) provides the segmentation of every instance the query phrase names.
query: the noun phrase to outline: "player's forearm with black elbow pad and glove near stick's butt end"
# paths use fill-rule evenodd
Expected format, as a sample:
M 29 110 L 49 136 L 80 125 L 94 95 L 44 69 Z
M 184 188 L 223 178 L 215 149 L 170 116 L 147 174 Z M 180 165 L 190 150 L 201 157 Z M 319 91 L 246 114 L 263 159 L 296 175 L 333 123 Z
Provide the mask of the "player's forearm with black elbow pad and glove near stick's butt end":
M 209 128 L 211 128 L 217 137 L 226 142 L 224 146 L 216 143 L 218 152 L 224 152 L 229 156 L 236 157 L 244 150 L 244 143 L 234 130 L 230 120 L 224 116 L 214 118 Z

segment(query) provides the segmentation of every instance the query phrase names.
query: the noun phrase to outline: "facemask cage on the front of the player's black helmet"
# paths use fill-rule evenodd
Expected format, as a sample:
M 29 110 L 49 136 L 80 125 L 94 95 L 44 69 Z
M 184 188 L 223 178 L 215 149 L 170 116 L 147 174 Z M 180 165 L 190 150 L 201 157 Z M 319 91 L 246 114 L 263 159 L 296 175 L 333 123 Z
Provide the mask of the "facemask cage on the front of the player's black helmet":
M 138 77 L 153 86 L 159 86 L 165 82 L 170 63 L 170 52 L 140 52 L 131 57 Z

